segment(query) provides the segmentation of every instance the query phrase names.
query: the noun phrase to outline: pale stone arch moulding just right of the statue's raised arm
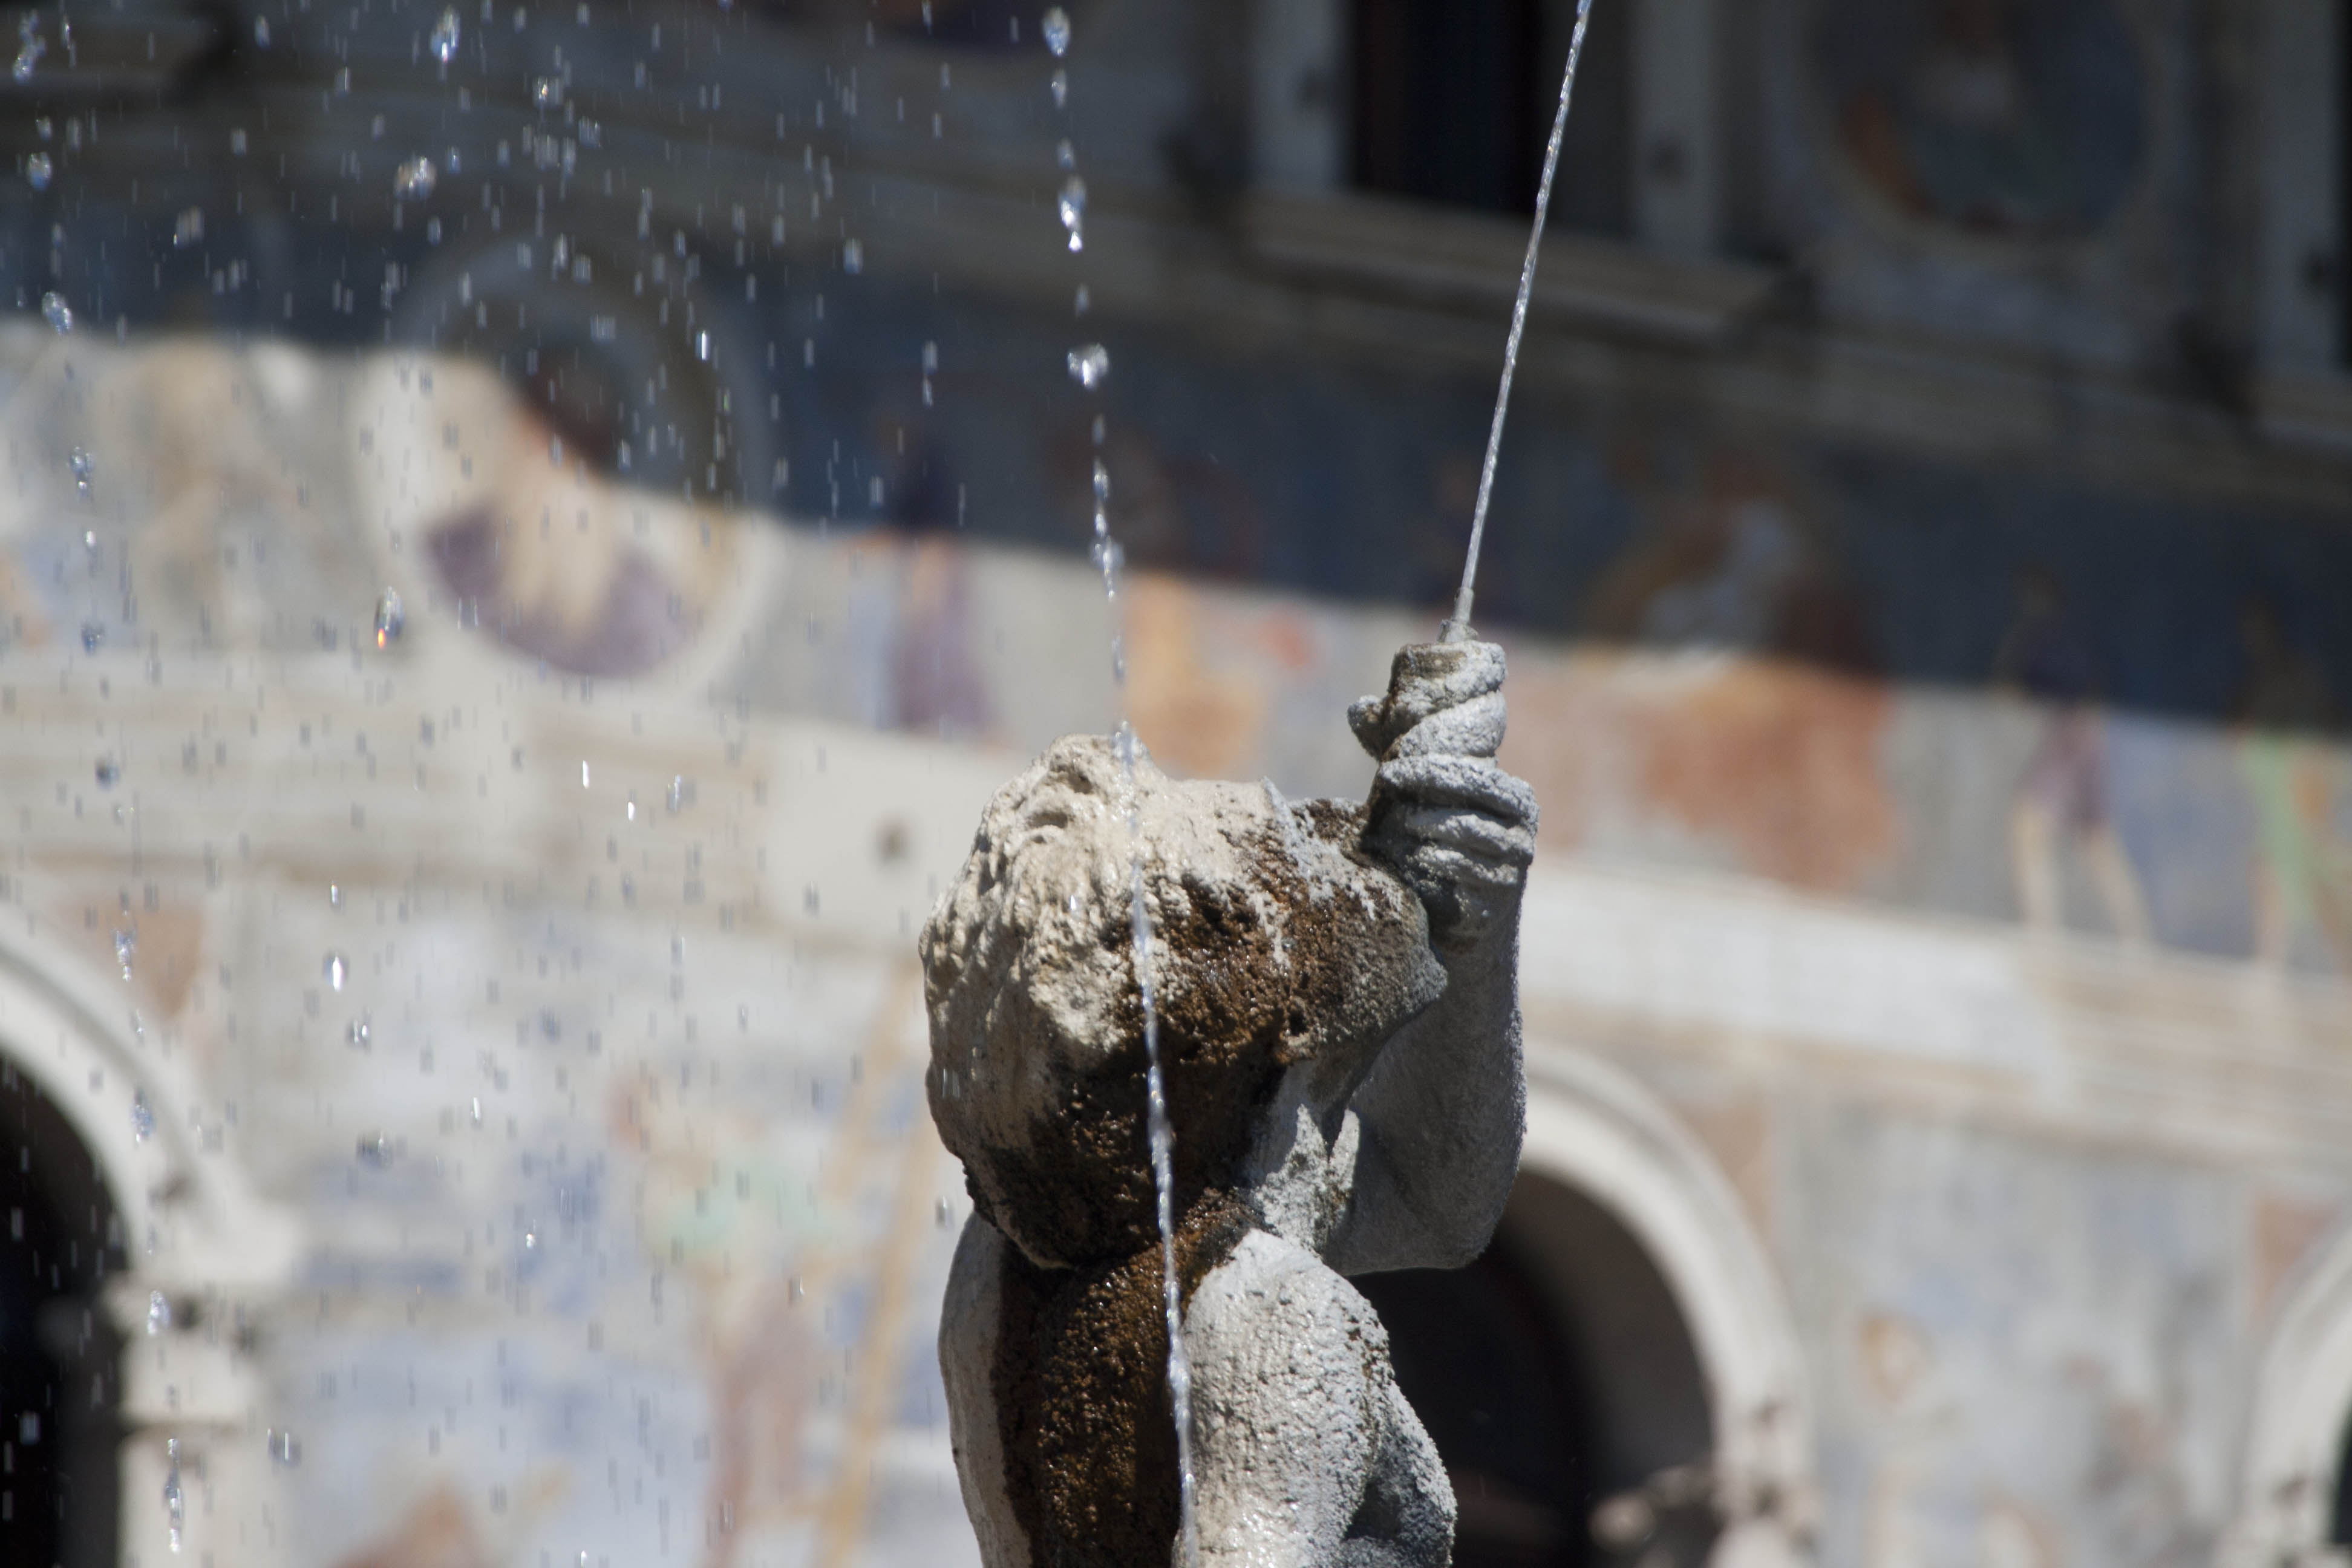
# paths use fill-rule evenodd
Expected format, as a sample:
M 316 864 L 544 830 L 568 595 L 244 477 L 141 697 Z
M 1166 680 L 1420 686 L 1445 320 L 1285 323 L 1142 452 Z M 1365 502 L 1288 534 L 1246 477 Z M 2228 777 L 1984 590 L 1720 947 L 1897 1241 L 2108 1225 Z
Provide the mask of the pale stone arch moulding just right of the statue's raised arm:
M 1705 1145 L 1625 1072 L 1531 1046 L 1519 1168 L 1623 1222 L 1682 1309 L 1715 1425 L 1724 1533 L 1712 1561 L 1806 1561 L 1816 1488 L 1804 1359 L 1780 1279 Z

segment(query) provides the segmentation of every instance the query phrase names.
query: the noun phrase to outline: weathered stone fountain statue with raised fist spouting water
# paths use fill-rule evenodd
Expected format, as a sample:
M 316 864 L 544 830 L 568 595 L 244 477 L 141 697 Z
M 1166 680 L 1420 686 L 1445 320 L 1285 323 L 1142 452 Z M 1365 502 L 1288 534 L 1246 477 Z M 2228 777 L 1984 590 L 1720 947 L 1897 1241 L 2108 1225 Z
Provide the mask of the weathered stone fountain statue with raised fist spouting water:
M 1348 722 L 1371 799 L 1176 783 L 1056 743 L 922 933 L 929 1098 L 974 1215 L 938 1354 L 990 1568 L 1171 1561 L 1178 1476 L 1134 839 L 1155 924 L 1200 1559 L 1444 1566 L 1454 1493 L 1348 1274 L 1461 1267 L 1519 1164 L 1536 802 L 1503 651 L 1406 646 Z

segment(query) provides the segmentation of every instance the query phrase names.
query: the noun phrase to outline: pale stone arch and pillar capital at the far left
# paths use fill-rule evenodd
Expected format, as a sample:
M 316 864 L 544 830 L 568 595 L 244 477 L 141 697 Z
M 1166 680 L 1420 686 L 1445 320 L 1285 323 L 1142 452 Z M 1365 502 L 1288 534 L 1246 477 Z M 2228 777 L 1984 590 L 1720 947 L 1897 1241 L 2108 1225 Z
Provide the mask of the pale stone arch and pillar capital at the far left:
M 186 1063 L 146 1037 L 120 987 L 0 936 L 0 1058 L 80 1140 L 122 1227 L 103 1293 L 125 1338 L 120 1556 L 261 1563 L 268 1453 L 249 1331 L 287 1281 L 296 1225 L 259 1201 Z M 179 1509 L 169 1505 L 176 1483 Z

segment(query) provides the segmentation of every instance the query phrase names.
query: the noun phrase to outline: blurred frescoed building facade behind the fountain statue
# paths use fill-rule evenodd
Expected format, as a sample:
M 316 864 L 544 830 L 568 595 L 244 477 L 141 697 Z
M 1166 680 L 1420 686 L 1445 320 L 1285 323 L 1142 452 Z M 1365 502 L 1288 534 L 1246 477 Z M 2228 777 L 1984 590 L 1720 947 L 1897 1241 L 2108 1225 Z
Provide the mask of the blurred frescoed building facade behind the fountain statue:
M 141 2 L 0 129 L 0 1530 L 969 1559 L 910 936 L 1117 708 L 1089 423 L 1145 743 L 1359 792 L 1566 7 Z M 1458 1561 L 2324 1561 L 2343 7 L 1595 9 Z

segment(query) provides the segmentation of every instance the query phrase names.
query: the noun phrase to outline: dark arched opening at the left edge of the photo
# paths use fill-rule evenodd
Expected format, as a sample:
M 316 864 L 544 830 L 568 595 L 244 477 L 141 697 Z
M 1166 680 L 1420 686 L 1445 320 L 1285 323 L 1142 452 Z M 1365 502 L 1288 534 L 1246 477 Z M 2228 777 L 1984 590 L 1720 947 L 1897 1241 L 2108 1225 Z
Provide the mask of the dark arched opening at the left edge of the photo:
M 120 1519 L 122 1227 L 89 1147 L 0 1058 L 0 1561 L 106 1568 Z

